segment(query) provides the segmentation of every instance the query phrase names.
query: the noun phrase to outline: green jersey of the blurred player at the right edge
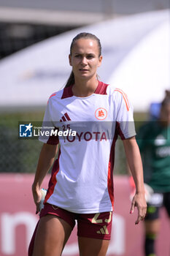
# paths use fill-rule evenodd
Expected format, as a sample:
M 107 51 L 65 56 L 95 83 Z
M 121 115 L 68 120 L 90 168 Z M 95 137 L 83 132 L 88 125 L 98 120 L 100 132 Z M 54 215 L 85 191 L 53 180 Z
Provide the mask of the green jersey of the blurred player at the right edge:
M 144 182 L 155 192 L 170 192 L 170 127 L 159 121 L 144 124 L 137 132 Z

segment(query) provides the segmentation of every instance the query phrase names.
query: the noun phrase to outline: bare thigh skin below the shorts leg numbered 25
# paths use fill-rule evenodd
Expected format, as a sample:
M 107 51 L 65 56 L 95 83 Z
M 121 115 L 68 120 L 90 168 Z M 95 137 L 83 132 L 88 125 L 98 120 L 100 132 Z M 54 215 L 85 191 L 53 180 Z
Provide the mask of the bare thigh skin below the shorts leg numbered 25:
M 105 256 L 109 240 L 79 237 L 80 256 Z

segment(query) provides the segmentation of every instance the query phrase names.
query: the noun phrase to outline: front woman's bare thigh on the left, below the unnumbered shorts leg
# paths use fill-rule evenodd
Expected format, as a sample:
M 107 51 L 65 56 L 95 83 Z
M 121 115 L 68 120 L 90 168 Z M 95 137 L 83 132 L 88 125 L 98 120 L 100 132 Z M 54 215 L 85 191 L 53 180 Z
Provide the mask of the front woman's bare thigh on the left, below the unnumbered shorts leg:
M 32 256 L 60 256 L 72 227 L 63 219 L 47 214 L 39 220 Z

